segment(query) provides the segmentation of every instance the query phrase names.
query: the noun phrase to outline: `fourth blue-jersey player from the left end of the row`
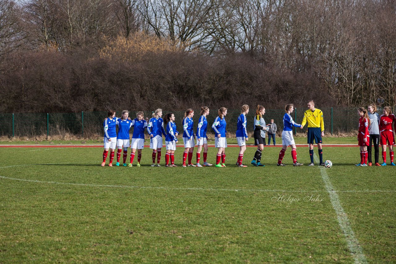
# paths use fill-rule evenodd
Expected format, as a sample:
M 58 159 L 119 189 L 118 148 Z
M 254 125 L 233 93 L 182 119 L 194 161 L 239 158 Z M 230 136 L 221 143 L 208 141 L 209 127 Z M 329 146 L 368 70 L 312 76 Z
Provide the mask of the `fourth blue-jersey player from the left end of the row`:
M 166 136 L 164 129 L 164 120 L 161 118 L 162 109 L 158 108 L 152 114 L 152 118 L 148 121 L 147 132 L 150 135 L 150 148 L 152 149 L 152 165 L 151 167 L 160 166 L 162 135 Z M 158 153 L 158 154 L 157 154 Z M 157 154 L 157 165 L 155 165 L 155 154 Z

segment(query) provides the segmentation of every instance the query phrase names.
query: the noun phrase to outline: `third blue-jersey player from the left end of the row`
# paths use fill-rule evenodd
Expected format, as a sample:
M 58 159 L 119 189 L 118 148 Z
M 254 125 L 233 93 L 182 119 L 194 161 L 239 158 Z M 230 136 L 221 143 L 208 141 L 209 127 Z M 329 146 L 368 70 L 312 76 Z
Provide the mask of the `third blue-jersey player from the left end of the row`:
M 146 118 L 148 120 L 148 118 Z M 139 111 L 136 113 L 136 118 L 132 120 L 131 126 L 133 127 L 132 141 L 131 141 L 131 157 L 128 167 L 132 167 L 135 152 L 137 150 L 137 167 L 140 167 L 140 160 L 142 158 L 142 149 L 145 144 L 145 129 L 147 121 L 144 120 L 144 113 Z

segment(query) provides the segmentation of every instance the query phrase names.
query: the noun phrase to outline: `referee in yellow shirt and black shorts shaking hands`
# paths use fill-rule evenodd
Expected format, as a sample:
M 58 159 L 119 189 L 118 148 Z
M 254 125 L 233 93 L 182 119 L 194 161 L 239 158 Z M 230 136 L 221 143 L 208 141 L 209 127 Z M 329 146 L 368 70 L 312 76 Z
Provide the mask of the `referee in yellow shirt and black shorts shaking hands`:
M 308 144 L 309 144 L 309 156 L 311 163 L 308 166 L 314 166 L 314 139 L 315 143 L 318 144 L 318 152 L 320 159 L 320 166 L 324 166 L 323 162 L 323 151 L 322 151 L 322 137 L 324 136 L 324 123 L 323 123 L 323 112 L 320 109 L 315 108 L 314 101 L 308 101 L 308 110 L 304 112 L 303 122 L 301 128 L 308 122 Z

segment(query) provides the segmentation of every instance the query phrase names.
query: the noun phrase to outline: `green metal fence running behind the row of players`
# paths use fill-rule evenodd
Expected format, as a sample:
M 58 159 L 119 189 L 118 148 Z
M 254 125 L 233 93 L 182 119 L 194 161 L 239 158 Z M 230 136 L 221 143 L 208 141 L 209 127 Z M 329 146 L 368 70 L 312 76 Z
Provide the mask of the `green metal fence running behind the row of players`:
M 296 108 L 291 114 L 295 122 L 301 123 L 304 112 L 307 108 Z M 321 108 L 324 113 L 324 124 L 326 134 L 348 133 L 358 129 L 358 115 L 356 108 Z M 129 116 L 131 119 L 135 118 L 137 111 L 131 111 Z M 240 110 L 228 110 L 226 116 L 227 131 L 235 133 L 236 121 L 240 115 Z M 168 113 L 163 111 L 163 116 Z M 382 109 L 378 110 L 382 113 Z M 150 118 L 152 111 L 145 111 L 145 117 Z M 173 111 L 176 117 L 176 125 L 179 131 L 182 131 L 181 122 L 184 118 L 183 111 Z M 251 108 L 247 114 L 247 130 L 253 131 L 253 118 L 255 108 Z M 121 116 L 121 111 L 116 113 L 116 116 Z M 208 123 L 211 124 L 217 116 L 217 110 L 210 110 L 207 117 Z M 267 123 L 274 119 L 274 123 L 278 126 L 278 131 L 283 128 L 283 109 L 266 109 L 264 119 Z M 70 133 L 72 135 L 80 135 L 82 137 L 90 137 L 93 135 L 103 134 L 103 120 L 107 117 L 107 112 L 79 112 L 79 113 L 14 113 L 14 114 L 0 114 L 0 135 L 1 136 L 38 136 L 38 135 L 63 135 Z M 200 110 L 195 110 L 193 117 L 194 129 L 198 125 L 200 117 Z M 211 131 L 211 128 L 208 128 Z M 294 133 L 299 130 L 295 129 Z

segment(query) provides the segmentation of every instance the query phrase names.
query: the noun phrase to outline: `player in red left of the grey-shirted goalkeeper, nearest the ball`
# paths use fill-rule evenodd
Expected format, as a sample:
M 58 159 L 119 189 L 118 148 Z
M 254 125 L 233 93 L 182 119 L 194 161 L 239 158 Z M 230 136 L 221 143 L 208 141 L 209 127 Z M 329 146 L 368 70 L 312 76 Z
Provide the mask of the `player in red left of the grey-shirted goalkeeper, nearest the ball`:
M 367 110 L 364 107 L 358 108 L 359 118 L 359 132 L 358 132 L 358 144 L 360 146 L 360 163 L 355 166 L 367 166 L 367 146 L 369 145 L 369 124 L 370 118 L 367 114 Z

